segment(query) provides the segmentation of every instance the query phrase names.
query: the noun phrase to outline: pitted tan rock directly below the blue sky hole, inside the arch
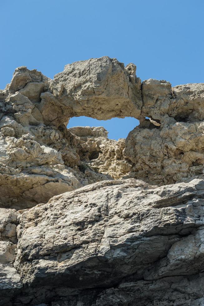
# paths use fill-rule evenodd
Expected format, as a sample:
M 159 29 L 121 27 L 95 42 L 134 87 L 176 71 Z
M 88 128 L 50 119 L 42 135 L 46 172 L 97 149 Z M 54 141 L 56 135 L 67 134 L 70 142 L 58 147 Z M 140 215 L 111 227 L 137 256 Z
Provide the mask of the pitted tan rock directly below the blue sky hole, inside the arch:
M 114 179 L 131 170 L 130 163 L 124 160 L 124 138 L 108 139 L 108 132 L 103 127 L 76 126 L 68 130 L 80 138 L 78 152 L 85 169 L 91 167 Z

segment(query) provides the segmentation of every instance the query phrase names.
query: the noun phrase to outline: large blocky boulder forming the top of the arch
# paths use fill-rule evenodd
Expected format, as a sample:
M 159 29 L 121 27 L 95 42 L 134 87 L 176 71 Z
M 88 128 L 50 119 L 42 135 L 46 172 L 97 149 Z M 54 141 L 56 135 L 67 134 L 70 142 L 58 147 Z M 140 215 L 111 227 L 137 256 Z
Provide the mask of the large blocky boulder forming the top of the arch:
M 142 99 L 136 67 L 100 57 L 65 66 L 51 82 L 51 92 L 70 116 L 99 120 L 140 115 Z

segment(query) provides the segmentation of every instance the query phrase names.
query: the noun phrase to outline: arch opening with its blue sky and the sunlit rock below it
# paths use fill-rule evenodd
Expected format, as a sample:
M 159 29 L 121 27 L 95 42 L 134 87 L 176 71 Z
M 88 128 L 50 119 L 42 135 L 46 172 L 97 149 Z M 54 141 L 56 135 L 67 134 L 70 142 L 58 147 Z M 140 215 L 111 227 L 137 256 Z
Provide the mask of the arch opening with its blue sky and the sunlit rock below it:
M 129 173 L 131 161 L 125 157 L 126 138 L 138 125 L 139 121 L 132 117 L 110 120 L 86 116 L 71 118 L 67 131 L 78 139 L 80 172 L 87 177 L 94 172 L 94 176 L 102 175 L 105 180 L 120 179 Z

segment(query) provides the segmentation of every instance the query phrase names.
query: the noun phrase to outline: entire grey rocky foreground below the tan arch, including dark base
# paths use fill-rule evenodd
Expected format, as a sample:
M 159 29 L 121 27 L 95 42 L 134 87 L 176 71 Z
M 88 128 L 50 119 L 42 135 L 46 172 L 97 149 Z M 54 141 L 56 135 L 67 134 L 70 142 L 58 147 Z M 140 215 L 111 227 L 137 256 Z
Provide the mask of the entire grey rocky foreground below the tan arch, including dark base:
M 202 305 L 203 207 L 203 180 L 155 187 L 129 179 L 19 211 L 17 257 L 4 254 L 16 277 L 3 302 Z

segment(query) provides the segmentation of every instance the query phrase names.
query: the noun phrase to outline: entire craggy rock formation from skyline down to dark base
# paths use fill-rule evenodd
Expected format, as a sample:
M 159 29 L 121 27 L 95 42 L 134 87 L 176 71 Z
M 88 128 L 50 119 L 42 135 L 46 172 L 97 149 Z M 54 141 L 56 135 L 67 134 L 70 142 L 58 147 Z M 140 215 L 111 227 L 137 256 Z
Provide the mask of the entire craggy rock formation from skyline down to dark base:
M 0 110 L 0 305 L 204 305 L 203 83 L 19 67 Z M 73 116 L 140 125 L 115 141 Z

